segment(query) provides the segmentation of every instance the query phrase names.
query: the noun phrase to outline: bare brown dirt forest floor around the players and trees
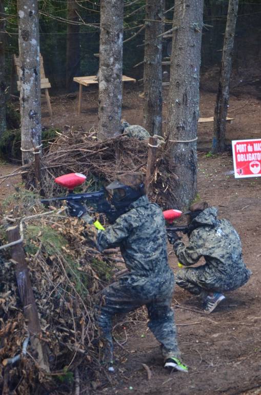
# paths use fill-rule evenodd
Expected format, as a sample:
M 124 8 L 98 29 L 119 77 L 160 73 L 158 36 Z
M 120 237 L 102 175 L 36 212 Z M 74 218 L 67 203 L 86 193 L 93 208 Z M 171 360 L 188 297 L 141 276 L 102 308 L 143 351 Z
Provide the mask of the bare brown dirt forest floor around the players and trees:
M 166 119 L 167 89 L 164 116 Z M 70 98 L 71 97 L 71 98 Z M 97 91 L 84 93 L 83 112 L 77 114 L 77 96 L 52 97 L 54 116 L 49 118 L 43 105 L 42 124 L 63 131 L 65 125 L 75 130 L 89 130 L 97 124 Z M 213 115 L 215 95 L 201 93 L 200 116 Z M 260 137 L 261 101 L 249 95 L 231 96 L 228 116 L 235 118 L 227 125 L 231 139 Z M 143 99 L 131 85 L 125 87 L 123 117 L 132 124 L 143 124 Z M 219 209 L 220 218 L 227 218 L 237 229 L 243 244 L 244 259 L 252 271 L 243 288 L 226 294 L 226 300 L 211 314 L 198 311 L 196 298 L 176 286 L 173 307 L 182 360 L 189 373 L 167 373 L 162 368 L 158 344 L 147 331 L 144 319 L 118 326 L 115 334 L 124 346 L 115 346 L 116 372 L 111 384 L 99 387 L 96 393 L 128 395 L 260 395 L 261 394 L 261 179 L 235 179 L 231 153 L 208 154 L 211 148 L 212 123 L 200 124 L 198 133 L 198 195 Z M 1 164 L 0 176 L 17 166 Z M 18 177 L 2 183 L 0 198 L 14 191 Z M 185 238 L 186 239 L 186 238 Z M 169 250 L 174 272 L 177 260 Z M 118 322 L 125 321 L 126 318 Z M 124 329 L 124 326 L 126 329 Z M 126 337 L 127 336 L 127 337 Z M 148 380 L 146 364 L 151 372 Z

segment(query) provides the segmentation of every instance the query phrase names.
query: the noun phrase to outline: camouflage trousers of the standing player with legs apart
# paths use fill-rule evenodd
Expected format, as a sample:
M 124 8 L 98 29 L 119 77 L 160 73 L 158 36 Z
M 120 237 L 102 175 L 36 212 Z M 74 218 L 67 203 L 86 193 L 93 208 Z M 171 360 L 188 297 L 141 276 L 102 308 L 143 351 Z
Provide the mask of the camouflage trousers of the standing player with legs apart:
M 106 343 L 105 362 L 113 361 L 112 317 L 127 314 L 144 305 L 148 310 L 148 327 L 160 343 L 163 356 L 179 356 L 174 312 L 171 309 L 173 288 L 174 276 L 170 272 L 162 280 L 129 275 L 103 290 L 97 319 L 101 337 Z

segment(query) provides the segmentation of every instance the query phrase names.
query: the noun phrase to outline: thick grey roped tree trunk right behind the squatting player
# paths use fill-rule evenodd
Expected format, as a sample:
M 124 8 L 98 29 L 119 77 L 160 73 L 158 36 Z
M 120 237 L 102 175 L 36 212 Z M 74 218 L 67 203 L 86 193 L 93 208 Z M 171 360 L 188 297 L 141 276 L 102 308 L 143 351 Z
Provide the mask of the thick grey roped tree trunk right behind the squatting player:
M 196 194 L 203 3 L 182 0 L 173 15 L 167 135 L 172 140 L 169 144 L 177 176 L 176 199 L 172 203 L 179 209 L 188 206 Z

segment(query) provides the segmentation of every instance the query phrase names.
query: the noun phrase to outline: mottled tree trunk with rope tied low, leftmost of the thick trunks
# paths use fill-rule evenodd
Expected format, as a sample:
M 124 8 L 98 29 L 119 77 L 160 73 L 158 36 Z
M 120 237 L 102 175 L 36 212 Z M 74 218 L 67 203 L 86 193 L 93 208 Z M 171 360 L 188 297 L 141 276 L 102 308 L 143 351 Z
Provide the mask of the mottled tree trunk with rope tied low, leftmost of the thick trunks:
M 21 149 L 23 165 L 34 159 L 33 145 L 41 145 L 41 76 L 37 0 L 17 0 L 21 81 Z

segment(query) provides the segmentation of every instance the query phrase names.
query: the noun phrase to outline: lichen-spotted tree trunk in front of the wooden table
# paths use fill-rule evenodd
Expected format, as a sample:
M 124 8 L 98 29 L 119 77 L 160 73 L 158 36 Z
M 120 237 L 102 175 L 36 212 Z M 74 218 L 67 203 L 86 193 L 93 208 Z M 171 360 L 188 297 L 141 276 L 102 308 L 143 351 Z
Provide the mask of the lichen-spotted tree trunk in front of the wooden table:
M 123 0 L 101 0 L 98 137 L 120 133 L 123 75 Z

